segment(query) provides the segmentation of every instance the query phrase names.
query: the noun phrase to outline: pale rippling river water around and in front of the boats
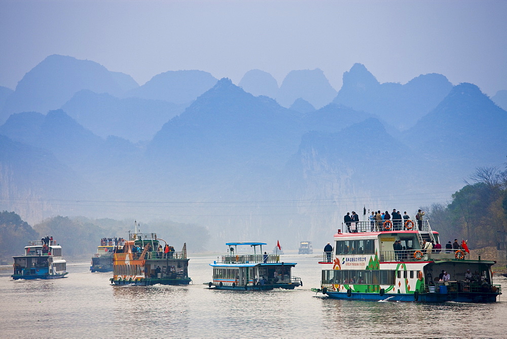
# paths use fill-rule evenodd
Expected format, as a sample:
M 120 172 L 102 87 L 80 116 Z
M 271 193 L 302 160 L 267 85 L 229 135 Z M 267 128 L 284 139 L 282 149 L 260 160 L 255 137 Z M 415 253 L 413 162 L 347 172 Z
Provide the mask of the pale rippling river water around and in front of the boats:
M 190 257 L 189 286 L 111 286 L 111 273 L 69 262 L 68 278 L 13 281 L 1 266 L 1 337 L 505 337 L 507 278 L 499 302 L 352 301 L 310 291 L 319 286 L 320 256 L 283 255 L 297 262 L 295 290 L 216 291 L 216 256 Z

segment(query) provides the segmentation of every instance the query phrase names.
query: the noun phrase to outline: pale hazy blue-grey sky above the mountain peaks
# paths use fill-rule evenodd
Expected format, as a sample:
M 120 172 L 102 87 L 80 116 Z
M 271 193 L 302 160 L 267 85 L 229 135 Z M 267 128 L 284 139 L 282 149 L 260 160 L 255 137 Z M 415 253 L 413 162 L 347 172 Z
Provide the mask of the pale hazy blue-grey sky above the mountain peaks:
M 140 85 L 174 70 L 278 84 L 321 69 L 335 89 L 355 62 L 380 82 L 440 73 L 507 89 L 507 1 L 0 0 L 0 85 L 51 54 L 96 61 Z

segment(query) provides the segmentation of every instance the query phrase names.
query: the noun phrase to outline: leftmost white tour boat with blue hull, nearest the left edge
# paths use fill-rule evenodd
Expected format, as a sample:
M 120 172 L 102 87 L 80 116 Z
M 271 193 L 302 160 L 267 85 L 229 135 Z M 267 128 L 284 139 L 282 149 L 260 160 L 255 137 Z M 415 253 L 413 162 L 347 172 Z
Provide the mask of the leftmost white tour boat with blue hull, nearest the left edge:
M 23 255 L 14 258 L 14 280 L 57 279 L 68 274 L 62 248 L 54 240 L 29 241 Z

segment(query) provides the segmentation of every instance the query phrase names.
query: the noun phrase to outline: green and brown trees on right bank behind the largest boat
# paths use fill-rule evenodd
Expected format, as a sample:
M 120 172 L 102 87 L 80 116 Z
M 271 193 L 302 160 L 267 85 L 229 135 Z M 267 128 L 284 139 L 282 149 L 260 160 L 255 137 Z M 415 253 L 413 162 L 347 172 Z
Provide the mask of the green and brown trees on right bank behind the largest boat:
M 507 163 L 503 171 L 479 167 L 448 204 L 432 204 L 427 216 L 441 243 L 458 239 L 469 248 L 502 246 L 507 232 Z M 504 246 L 504 245 L 503 245 Z

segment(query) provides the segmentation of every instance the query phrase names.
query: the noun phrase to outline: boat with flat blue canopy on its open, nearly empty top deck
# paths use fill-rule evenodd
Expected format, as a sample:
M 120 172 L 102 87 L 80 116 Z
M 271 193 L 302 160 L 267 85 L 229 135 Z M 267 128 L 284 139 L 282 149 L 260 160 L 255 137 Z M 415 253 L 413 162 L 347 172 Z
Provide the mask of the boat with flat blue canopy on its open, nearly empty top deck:
M 291 270 L 295 262 L 280 262 L 279 255 L 263 254 L 265 243 L 226 243 L 228 254 L 221 262 L 209 264 L 213 267 L 212 281 L 203 283 L 209 288 L 222 290 L 272 290 L 274 288 L 294 289 L 303 286 L 299 277 L 293 277 Z M 238 253 L 238 246 L 250 246 L 251 254 Z M 257 247 L 259 246 L 259 252 Z

